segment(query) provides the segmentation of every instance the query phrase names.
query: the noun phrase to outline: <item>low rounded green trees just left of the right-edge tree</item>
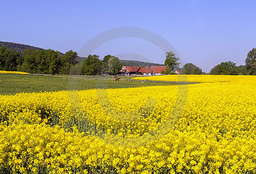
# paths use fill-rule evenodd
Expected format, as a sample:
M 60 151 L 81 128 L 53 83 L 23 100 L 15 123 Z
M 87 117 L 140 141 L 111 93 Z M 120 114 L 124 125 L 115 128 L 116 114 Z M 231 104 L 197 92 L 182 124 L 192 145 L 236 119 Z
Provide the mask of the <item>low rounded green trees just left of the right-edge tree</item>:
M 236 63 L 232 61 L 221 62 L 217 66 L 214 66 L 212 70 L 210 70 L 210 74 L 212 75 L 237 75 L 238 70 Z

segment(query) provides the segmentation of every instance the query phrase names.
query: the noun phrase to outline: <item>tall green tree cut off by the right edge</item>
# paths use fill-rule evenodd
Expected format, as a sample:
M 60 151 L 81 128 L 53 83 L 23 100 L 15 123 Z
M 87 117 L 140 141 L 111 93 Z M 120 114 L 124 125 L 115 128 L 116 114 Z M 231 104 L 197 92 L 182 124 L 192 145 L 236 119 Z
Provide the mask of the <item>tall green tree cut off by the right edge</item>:
M 250 75 L 256 75 L 256 48 L 253 48 L 248 52 L 245 66 Z

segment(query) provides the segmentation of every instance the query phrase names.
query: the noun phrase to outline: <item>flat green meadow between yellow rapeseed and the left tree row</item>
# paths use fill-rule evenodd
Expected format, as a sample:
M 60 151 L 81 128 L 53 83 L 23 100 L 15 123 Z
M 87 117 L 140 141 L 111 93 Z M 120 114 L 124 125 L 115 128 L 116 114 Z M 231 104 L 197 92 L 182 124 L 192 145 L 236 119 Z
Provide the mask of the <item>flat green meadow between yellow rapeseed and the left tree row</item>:
M 177 85 L 172 83 L 142 83 L 138 81 L 129 81 L 129 79 L 131 79 L 131 77 L 121 77 L 121 80 L 119 82 L 115 82 L 114 78 L 111 77 L 0 74 L 0 95 L 14 95 L 19 92 L 44 92 L 61 90 L 89 90 L 92 88 L 130 88 L 142 86 Z

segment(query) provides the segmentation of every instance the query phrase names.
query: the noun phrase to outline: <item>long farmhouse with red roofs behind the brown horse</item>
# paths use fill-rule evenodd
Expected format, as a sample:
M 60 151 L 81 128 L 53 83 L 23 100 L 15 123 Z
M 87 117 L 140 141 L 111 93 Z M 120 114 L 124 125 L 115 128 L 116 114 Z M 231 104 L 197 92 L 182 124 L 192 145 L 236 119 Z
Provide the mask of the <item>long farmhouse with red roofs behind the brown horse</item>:
M 166 71 L 165 66 L 123 66 L 119 71 L 121 75 L 133 75 L 133 74 L 141 74 L 141 75 L 161 75 L 162 71 Z

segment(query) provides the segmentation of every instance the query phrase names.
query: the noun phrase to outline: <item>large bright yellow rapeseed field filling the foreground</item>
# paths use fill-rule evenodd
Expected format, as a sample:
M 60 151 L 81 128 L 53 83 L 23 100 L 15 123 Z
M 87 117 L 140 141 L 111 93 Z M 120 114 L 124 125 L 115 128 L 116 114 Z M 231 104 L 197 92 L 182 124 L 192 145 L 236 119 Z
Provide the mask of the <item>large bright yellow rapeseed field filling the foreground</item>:
M 256 173 L 256 77 L 0 96 L 0 173 Z

